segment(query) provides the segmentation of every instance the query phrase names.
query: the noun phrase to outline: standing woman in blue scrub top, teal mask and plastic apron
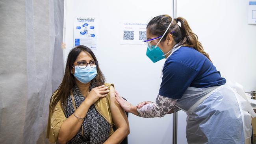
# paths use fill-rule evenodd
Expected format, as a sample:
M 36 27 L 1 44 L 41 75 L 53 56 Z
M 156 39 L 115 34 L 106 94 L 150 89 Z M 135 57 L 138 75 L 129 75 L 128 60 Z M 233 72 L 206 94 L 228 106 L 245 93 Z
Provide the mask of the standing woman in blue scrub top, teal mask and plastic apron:
M 250 144 L 255 113 L 243 88 L 226 83 L 187 21 L 169 15 L 154 17 L 146 35 L 149 59 L 153 63 L 166 59 L 158 96 L 155 102 L 134 106 L 116 92 L 121 107 L 145 118 L 185 111 L 188 144 Z

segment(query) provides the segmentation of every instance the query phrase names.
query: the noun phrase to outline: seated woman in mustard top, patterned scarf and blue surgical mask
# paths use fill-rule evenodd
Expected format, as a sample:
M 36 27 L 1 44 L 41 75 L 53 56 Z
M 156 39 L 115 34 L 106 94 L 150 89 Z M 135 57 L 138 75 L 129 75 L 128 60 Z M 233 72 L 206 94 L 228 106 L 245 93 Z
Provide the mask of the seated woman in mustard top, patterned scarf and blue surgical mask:
M 76 46 L 50 100 L 46 138 L 61 144 L 119 144 L 129 133 L 128 118 L 115 100 L 114 85 L 105 83 L 93 52 Z

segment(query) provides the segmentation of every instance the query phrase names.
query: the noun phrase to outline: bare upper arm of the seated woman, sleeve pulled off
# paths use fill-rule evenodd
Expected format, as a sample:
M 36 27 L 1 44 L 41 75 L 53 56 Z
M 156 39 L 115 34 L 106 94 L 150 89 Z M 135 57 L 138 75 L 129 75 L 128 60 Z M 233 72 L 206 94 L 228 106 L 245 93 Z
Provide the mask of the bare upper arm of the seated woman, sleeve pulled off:
M 129 129 L 129 122 L 126 116 L 126 113 L 119 105 L 119 103 L 115 99 L 115 89 L 113 86 L 110 86 L 110 109 L 111 109 L 111 116 L 116 128 L 126 128 Z

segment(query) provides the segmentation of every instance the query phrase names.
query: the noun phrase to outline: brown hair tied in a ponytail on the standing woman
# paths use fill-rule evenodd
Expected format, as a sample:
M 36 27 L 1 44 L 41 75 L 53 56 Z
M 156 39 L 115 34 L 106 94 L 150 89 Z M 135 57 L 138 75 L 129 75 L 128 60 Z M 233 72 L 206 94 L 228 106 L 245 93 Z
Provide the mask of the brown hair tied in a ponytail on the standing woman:
M 171 18 L 169 15 L 159 15 L 154 17 L 152 20 L 150 20 L 150 22 L 148 22 L 147 30 L 150 31 L 152 35 L 161 36 L 172 22 L 169 30 L 167 30 L 165 35 L 163 35 L 162 40 L 165 41 L 167 34 L 171 33 L 174 37 L 176 37 L 174 41 L 178 44 L 178 46 L 192 47 L 205 55 L 211 61 L 209 55 L 204 52 L 202 44 L 198 41 L 197 35 L 193 33 L 189 27 L 187 20 L 182 17 L 175 18 L 173 21 L 172 19 L 173 18 Z M 181 26 L 177 24 L 178 22 L 180 22 Z

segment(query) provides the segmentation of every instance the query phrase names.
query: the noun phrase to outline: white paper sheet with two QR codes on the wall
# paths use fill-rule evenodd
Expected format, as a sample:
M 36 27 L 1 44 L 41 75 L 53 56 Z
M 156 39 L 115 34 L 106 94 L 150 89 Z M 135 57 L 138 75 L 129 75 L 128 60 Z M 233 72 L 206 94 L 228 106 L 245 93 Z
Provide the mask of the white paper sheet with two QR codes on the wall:
M 147 24 L 139 22 L 120 22 L 120 44 L 145 45 Z

